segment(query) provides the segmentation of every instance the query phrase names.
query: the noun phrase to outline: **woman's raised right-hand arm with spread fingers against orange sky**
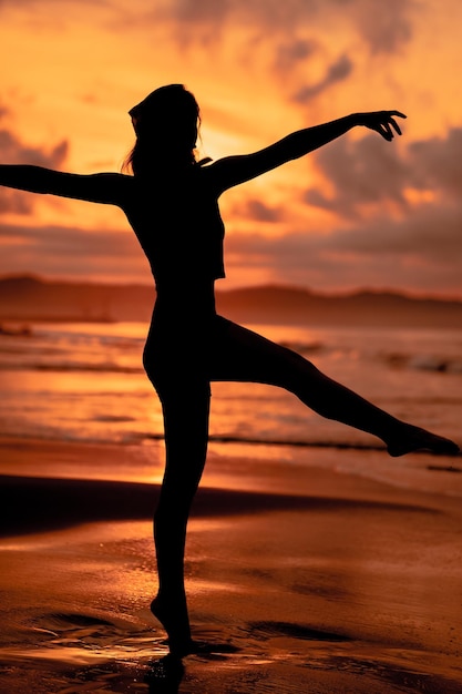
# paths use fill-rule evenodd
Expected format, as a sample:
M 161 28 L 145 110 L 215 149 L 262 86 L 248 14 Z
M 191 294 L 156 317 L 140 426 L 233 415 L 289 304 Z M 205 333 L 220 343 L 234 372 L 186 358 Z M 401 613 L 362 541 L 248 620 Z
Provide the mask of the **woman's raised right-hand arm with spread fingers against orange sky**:
M 219 191 L 223 192 L 290 160 L 299 159 L 340 137 L 357 125 L 369 127 L 382 135 L 384 140 L 391 141 L 394 132 L 401 134 L 397 118 L 405 118 L 405 115 L 400 111 L 353 113 L 330 123 L 299 130 L 259 152 L 218 160 L 207 169 L 214 175 Z

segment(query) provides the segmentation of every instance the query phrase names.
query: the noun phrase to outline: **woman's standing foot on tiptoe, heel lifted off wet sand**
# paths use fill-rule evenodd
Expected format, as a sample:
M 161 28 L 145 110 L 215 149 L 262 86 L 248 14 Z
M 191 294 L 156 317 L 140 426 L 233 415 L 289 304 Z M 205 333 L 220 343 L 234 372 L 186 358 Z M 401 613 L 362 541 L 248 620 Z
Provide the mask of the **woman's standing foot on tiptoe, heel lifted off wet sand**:
M 194 653 L 195 644 L 191 637 L 186 600 L 166 600 L 157 595 L 151 603 L 151 612 L 167 632 L 168 649 L 172 655 L 183 657 Z

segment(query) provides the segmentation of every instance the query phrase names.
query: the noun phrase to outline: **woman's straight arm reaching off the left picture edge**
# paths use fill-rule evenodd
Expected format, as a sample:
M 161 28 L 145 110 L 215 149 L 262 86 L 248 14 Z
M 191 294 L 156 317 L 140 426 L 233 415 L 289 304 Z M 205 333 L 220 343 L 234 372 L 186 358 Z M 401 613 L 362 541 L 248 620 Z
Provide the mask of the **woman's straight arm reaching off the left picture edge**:
M 80 175 L 43 166 L 0 164 L 0 185 L 112 205 L 122 203 L 126 178 L 116 173 Z

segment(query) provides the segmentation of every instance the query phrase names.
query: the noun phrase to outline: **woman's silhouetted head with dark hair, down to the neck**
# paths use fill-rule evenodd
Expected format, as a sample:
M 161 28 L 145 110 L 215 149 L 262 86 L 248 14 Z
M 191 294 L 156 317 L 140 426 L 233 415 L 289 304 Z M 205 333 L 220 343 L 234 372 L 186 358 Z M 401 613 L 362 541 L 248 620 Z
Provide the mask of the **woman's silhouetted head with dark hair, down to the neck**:
M 136 133 L 122 171 L 144 175 L 160 162 L 176 166 L 196 163 L 195 147 L 201 113 L 194 95 L 183 84 L 167 84 L 129 111 Z

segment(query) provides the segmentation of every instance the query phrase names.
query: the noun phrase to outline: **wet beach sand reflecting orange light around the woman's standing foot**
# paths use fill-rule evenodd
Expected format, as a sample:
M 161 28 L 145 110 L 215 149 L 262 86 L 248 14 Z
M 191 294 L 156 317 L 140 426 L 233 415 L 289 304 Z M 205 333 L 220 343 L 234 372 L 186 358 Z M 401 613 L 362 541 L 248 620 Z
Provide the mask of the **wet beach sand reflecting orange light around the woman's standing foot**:
M 238 491 L 212 486 L 212 462 L 186 564 L 208 646 L 179 665 L 148 612 L 158 486 L 55 473 L 136 451 L 11 439 L 0 455 L 1 693 L 462 692 L 460 499 L 277 461 L 256 490 L 236 460 Z

